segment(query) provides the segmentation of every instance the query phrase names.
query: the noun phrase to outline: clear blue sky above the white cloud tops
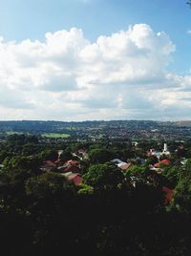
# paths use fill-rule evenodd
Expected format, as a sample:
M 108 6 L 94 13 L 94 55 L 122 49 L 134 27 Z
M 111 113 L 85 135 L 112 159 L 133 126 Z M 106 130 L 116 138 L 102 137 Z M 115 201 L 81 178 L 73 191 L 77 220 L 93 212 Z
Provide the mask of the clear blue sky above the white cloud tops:
M 186 0 L 6 0 L 0 1 L 0 34 L 7 40 L 44 39 L 46 32 L 82 29 L 90 40 L 100 34 L 146 23 L 167 32 L 177 46 L 172 69 L 190 69 L 191 10 Z

